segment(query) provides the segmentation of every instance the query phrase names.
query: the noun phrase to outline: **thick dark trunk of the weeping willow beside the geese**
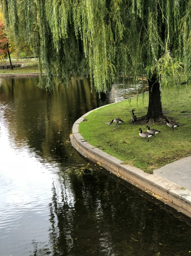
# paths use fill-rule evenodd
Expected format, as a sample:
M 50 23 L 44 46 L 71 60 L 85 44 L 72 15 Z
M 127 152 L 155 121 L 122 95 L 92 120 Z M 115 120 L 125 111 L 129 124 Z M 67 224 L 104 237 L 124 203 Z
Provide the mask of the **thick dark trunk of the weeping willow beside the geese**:
M 149 83 L 149 107 L 147 115 L 141 118 L 148 123 L 158 123 L 165 120 L 162 113 L 160 85 L 155 75 L 148 79 Z

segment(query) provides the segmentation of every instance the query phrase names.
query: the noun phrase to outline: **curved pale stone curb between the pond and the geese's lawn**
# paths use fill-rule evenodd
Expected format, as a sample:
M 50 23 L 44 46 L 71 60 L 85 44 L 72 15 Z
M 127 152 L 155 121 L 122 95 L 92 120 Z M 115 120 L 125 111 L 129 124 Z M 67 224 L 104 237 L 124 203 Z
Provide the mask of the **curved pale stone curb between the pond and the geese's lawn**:
M 116 104 L 116 103 L 112 103 Z M 110 105 L 110 104 L 108 104 Z M 108 106 L 105 105 L 105 106 Z M 105 107 L 102 106 L 102 107 Z M 99 108 L 102 108 L 99 107 Z M 93 109 L 97 110 L 99 108 Z M 81 116 L 72 127 L 72 138 L 76 143 L 77 147 L 87 154 L 90 158 L 100 162 L 104 166 L 111 168 L 116 173 L 136 182 L 137 184 L 147 188 L 149 191 L 165 198 L 166 200 L 178 205 L 180 208 L 191 213 L 191 192 L 188 190 L 181 190 L 181 187 L 169 180 L 158 176 L 157 174 L 148 174 L 144 173 L 141 169 L 132 167 L 129 165 L 122 165 L 122 161 L 118 158 L 115 158 L 108 153 L 105 153 L 103 150 L 96 148 L 90 145 L 87 141 L 84 141 L 84 138 L 79 133 L 78 127 L 79 123 L 83 121 L 89 113 Z M 173 205 L 171 205 L 173 206 Z M 185 213 L 186 214 L 186 213 Z M 188 214 L 187 214 L 188 215 Z

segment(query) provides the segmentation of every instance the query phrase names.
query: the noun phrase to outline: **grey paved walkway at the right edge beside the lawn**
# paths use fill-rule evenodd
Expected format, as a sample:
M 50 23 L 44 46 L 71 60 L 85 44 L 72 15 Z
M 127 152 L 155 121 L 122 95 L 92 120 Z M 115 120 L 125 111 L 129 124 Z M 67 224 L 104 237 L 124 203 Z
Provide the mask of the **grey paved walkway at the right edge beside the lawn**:
M 154 170 L 154 174 L 191 191 L 191 157 L 182 158 Z

